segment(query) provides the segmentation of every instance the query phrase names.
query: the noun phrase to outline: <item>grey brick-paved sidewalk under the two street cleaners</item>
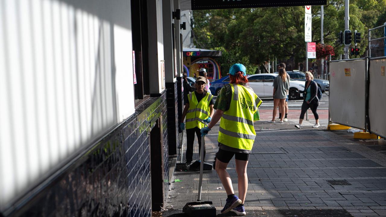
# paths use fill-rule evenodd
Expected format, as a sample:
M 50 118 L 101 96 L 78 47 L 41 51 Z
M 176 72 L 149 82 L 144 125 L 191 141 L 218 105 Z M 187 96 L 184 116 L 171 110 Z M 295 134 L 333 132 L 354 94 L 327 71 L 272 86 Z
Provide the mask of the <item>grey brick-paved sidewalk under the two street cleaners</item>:
M 327 120 L 315 129 L 311 117 L 302 129 L 294 127 L 298 119 L 255 123 L 257 136 L 247 168 L 247 216 L 386 216 L 386 141 L 326 131 Z M 210 163 L 218 150 L 218 127 L 205 137 Z M 193 159 L 198 159 L 197 141 Z M 237 195 L 234 158 L 227 171 Z M 176 171 L 166 210 L 159 216 L 186 216 L 182 208 L 197 200 L 198 180 L 199 172 Z M 215 170 L 204 171 L 202 190 L 201 200 L 212 201 L 220 214 L 227 194 Z

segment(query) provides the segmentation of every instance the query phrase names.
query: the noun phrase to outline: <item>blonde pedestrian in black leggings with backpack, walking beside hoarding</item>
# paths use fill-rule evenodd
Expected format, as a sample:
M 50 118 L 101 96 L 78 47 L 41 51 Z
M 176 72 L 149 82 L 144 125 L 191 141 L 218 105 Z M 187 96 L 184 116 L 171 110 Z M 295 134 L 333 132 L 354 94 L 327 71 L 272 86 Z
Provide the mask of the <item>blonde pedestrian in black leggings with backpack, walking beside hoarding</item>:
M 301 124 L 303 123 L 304 114 L 311 108 L 312 113 L 315 117 L 315 125 L 312 127 L 320 127 L 319 124 L 319 115 L 317 108 L 319 106 L 319 100 L 322 98 L 322 91 L 319 90 L 319 87 L 315 81 L 313 81 L 313 75 L 309 71 L 306 72 L 306 83 L 304 85 L 304 91 L 300 90 L 300 93 L 303 93 L 303 104 L 301 105 L 301 113 L 299 118 L 299 124 L 296 124 L 295 127 L 301 129 Z M 320 94 L 318 94 L 320 92 Z M 318 98 L 319 95 L 319 98 Z

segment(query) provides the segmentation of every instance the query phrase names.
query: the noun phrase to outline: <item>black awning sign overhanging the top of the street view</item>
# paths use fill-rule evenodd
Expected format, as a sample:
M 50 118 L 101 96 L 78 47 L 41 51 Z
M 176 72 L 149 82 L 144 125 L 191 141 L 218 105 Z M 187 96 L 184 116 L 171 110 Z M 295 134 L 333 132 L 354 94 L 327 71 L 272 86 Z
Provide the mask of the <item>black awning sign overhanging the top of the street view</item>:
M 327 0 L 191 0 L 192 10 L 326 5 Z

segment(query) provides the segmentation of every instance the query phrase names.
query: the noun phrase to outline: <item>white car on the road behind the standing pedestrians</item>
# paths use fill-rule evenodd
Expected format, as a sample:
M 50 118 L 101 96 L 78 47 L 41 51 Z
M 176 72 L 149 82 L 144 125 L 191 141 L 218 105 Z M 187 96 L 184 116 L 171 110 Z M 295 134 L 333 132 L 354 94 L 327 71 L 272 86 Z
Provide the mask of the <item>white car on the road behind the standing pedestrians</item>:
M 249 86 L 253 89 L 256 95 L 260 98 L 272 98 L 273 81 L 278 74 L 263 73 L 247 76 Z M 297 100 L 300 98 L 299 90 L 304 90 L 304 81 L 296 81 L 290 78 L 289 80 L 289 100 Z

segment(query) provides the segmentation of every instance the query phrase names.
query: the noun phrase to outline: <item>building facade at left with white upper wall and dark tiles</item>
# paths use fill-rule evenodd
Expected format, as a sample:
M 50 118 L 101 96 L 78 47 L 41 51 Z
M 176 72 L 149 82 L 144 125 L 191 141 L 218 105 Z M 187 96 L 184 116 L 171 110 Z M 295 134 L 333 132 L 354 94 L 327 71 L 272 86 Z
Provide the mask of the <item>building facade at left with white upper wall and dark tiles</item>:
M 1 216 L 161 210 L 183 105 L 177 9 L 179 0 L 2 1 Z

